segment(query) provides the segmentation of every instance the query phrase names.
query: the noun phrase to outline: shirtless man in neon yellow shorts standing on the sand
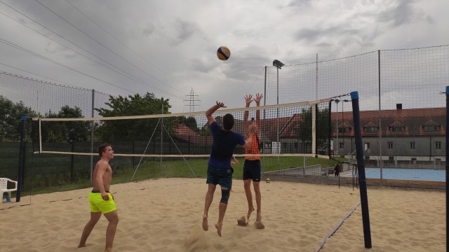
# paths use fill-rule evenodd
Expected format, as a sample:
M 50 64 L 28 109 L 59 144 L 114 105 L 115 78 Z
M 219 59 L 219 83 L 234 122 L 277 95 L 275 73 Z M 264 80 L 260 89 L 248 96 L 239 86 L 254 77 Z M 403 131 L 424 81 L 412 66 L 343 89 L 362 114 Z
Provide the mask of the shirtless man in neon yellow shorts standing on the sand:
M 93 171 L 93 190 L 89 193 L 89 202 L 91 203 L 91 220 L 88 221 L 83 229 L 81 240 L 78 247 L 86 246 L 86 240 L 91 235 L 93 227 L 97 224 L 102 214 L 105 215 L 109 225 L 106 230 L 106 246 L 105 251 L 112 251 L 112 243 L 114 242 L 115 231 L 119 223 L 119 214 L 114 203 L 114 196 L 109 193 L 111 186 L 112 169 L 109 161 L 114 158 L 114 151 L 110 144 L 102 144 L 98 147 L 98 154 L 101 160 L 95 165 Z

